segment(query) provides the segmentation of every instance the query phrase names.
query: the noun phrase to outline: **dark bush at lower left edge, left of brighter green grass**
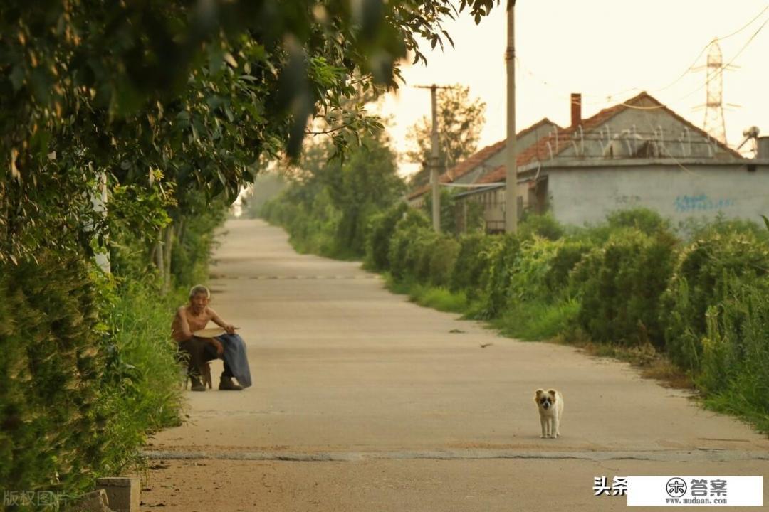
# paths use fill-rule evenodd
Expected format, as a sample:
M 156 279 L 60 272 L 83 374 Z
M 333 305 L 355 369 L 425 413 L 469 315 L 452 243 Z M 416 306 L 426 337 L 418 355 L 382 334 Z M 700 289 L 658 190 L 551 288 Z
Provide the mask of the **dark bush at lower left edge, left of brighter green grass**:
M 77 256 L 0 269 L 0 487 L 85 490 L 107 458 L 98 297 Z

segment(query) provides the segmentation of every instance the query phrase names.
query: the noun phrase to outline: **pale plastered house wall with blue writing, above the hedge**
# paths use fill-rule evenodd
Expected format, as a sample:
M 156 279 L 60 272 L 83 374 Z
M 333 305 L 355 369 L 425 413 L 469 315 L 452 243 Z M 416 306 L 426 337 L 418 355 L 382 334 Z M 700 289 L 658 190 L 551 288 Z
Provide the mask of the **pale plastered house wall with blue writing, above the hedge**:
M 646 206 L 674 223 L 719 213 L 761 223 L 769 215 L 769 163 L 548 168 L 551 210 L 561 223 L 599 223 L 614 210 Z

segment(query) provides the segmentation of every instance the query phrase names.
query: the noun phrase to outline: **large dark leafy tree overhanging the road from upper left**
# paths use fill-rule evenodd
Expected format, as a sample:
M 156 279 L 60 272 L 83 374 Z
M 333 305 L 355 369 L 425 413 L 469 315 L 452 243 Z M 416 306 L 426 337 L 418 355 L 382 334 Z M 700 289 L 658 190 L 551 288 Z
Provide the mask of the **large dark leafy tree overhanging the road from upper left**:
M 359 88 L 394 86 L 398 59 L 424 61 L 418 38 L 442 45 L 446 18 L 496 3 L 2 2 L 0 259 L 105 239 L 102 173 L 234 200 L 259 157 L 298 154 L 310 117 L 344 149 L 378 125 L 348 101 Z

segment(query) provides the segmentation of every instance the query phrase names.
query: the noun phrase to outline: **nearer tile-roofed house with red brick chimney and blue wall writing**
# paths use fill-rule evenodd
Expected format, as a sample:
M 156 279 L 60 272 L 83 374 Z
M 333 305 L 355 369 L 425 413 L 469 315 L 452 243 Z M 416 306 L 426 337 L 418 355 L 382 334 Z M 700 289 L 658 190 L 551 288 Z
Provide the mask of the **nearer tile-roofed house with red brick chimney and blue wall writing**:
M 571 125 L 521 150 L 519 212 L 551 210 L 561 223 L 598 223 L 611 211 L 646 206 L 671 220 L 691 216 L 760 220 L 769 212 L 769 167 L 741 157 L 651 95 L 582 118 L 572 94 Z M 765 155 L 769 157 L 769 155 Z M 504 164 L 457 199 L 484 205 L 488 231 L 504 230 Z

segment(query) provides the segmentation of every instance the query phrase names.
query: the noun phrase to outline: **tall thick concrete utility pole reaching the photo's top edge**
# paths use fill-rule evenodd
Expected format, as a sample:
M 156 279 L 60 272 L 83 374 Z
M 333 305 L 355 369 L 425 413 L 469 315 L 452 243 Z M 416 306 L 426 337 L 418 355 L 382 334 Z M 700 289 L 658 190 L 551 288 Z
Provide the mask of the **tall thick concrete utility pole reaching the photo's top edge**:
M 504 231 L 518 230 L 518 157 L 515 140 L 515 0 L 508 0 L 508 48 L 504 60 L 508 68 L 508 142 L 507 173 L 504 180 Z

